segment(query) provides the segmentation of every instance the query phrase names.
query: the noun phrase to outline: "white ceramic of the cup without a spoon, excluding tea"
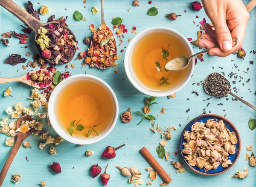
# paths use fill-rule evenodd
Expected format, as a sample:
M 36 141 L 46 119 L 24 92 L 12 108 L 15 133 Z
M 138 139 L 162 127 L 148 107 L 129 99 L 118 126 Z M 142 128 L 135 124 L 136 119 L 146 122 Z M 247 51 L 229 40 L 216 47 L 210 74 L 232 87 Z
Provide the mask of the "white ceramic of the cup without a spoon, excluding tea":
M 57 120 L 57 117 L 55 114 L 55 107 L 56 107 L 56 102 L 57 102 L 56 98 L 58 97 L 61 90 L 63 90 L 65 88 L 65 86 L 69 85 L 72 82 L 79 81 L 79 80 L 95 81 L 96 83 L 99 83 L 102 87 L 104 87 L 111 95 L 111 98 L 113 101 L 113 106 L 114 106 L 113 119 L 112 119 L 111 123 L 109 124 L 108 128 L 105 129 L 105 131 L 103 131 L 102 133 L 100 133 L 99 136 L 94 136 L 94 137 L 90 137 L 90 138 L 87 138 L 87 137 L 83 138 L 81 136 L 71 136 L 68 133 L 67 129 L 64 129 L 58 123 L 58 120 Z M 65 140 L 67 140 L 73 144 L 80 144 L 80 145 L 93 144 L 93 143 L 105 138 L 111 132 L 111 130 L 114 128 L 117 118 L 118 118 L 118 101 L 117 101 L 116 95 L 113 92 L 113 90 L 111 89 L 111 87 L 108 86 L 108 84 L 105 83 L 104 81 L 102 81 L 100 78 L 97 78 L 93 75 L 73 75 L 69 78 L 66 78 L 64 81 L 61 81 L 61 83 L 59 83 L 56 86 L 56 88 L 53 90 L 53 92 L 50 96 L 50 99 L 49 99 L 49 104 L 48 104 L 48 116 L 49 116 L 49 120 L 50 120 L 55 132 L 57 132 L 58 135 L 60 135 Z

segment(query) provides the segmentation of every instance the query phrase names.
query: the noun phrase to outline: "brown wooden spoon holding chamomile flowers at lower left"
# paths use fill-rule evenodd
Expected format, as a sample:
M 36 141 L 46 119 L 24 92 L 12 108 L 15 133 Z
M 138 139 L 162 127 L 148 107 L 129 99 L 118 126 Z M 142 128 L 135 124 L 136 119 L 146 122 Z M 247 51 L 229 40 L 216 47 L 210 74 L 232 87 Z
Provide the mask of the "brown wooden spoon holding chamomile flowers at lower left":
M 20 117 L 17 120 L 16 123 L 16 129 L 20 128 L 20 124 L 22 121 L 33 121 L 34 118 L 32 118 L 31 116 L 24 116 L 24 117 Z M 29 135 L 32 134 L 32 132 L 34 132 L 34 128 L 30 129 L 28 132 L 25 132 L 24 134 L 22 134 L 22 132 L 17 132 L 17 140 L 14 144 L 14 146 L 12 147 L 12 150 L 6 160 L 6 163 L 3 166 L 3 169 L 0 173 L 0 186 L 3 184 L 3 180 L 6 176 L 6 173 L 9 170 L 9 167 L 12 164 L 13 159 L 15 158 L 15 155 L 17 154 L 18 150 L 20 149 L 20 146 L 22 145 L 23 141 L 26 139 L 26 137 L 28 137 Z

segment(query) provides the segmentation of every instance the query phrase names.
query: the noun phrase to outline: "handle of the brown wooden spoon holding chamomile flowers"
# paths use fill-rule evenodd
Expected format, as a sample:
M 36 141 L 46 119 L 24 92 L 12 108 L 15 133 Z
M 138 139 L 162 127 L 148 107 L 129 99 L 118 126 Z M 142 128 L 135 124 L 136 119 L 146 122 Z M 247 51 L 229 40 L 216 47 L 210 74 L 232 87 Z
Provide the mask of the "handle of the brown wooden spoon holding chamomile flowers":
M 17 141 L 15 142 L 14 146 L 12 147 L 12 151 L 10 152 L 10 154 L 6 160 L 6 163 L 4 164 L 3 169 L 0 173 L 0 186 L 2 186 L 3 180 L 6 176 L 6 173 L 8 172 L 9 167 L 11 166 L 12 161 L 15 158 L 15 155 L 17 154 L 22 142 L 23 142 L 22 138 L 17 138 Z

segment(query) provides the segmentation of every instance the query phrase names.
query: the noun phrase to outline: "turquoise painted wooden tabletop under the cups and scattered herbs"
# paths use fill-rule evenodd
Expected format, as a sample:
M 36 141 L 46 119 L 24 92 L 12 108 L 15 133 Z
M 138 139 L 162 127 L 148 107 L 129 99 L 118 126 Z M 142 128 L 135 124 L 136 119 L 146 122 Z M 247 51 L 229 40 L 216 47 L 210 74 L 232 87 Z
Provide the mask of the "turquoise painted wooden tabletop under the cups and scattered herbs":
M 19 6 L 25 6 L 25 0 L 15 0 Z M 38 5 L 40 2 L 40 5 Z M 118 74 L 114 73 L 115 68 L 109 68 L 105 71 L 99 69 L 90 69 L 88 66 L 81 66 L 81 61 L 72 60 L 71 63 L 75 65 L 75 68 L 71 67 L 68 69 L 72 75 L 84 74 L 85 72 L 89 75 L 95 75 L 102 80 L 108 83 L 113 91 L 116 93 L 117 99 L 119 101 L 119 116 L 131 107 L 133 112 L 133 120 L 129 124 L 124 124 L 118 119 L 115 128 L 113 131 L 96 144 L 92 145 L 75 145 L 67 141 L 62 142 L 60 145 L 56 146 L 58 150 L 57 155 L 49 155 L 49 148 L 40 150 L 38 144 L 42 142 L 39 140 L 38 136 L 31 136 L 27 141 L 31 142 L 32 149 L 26 149 L 21 147 L 18 151 L 9 172 L 6 175 L 5 181 L 3 182 L 3 187 L 35 187 L 38 186 L 39 182 L 45 181 L 47 187 L 63 187 L 63 186 L 72 186 L 72 187 L 81 187 L 81 186 L 102 186 L 101 181 L 98 178 L 92 178 L 90 176 L 90 166 L 91 164 L 99 164 L 102 168 L 105 168 L 106 164 L 109 164 L 108 173 L 111 175 L 111 178 L 108 182 L 109 187 L 131 187 L 133 184 L 128 184 L 128 178 L 123 177 L 120 174 L 120 171 L 116 166 L 121 167 L 137 167 L 143 177 L 144 186 L 149 181 L 149 173 L 145 170 L 145 167 L 148 167 L 148 163 L 140 155 L 139 150 L 144 146 L 148 148 L 151 154 L 157 159 L 157 161 L 163 166 L 166 172 L 171 174 L 172 183 L 169 186 L 180 186 L 188 187 L 197 185 L 198 187 L 215 187 L 215 186 L 256 186 L 255 177 L 256 177 L 256 168 L 250 167 L 249 162 L 245 161 L 245 154 L 248 152 L 246 150 L 247 145 L 253 145 L 253 150 L 256 148 L 256 130 L 252 131 L 248 127 L 248 120 L 250 118 L 255 118 L 256 114 L 253 109 L 245 106 L 239 101 L 232 101 L 231 96 L 228 96 L 229 100 L 218 98 L 211 98 L 209 101 L 206 101 L 209 98 L 204 90 L 203 86 L 197 86 L 193 83 L 199 83 L 204 81 L 206 76 L 212 72 L 224 72 L 225 77 L 228 78 L 228 74 L 233 72 L 237 73 L 243 77 L 241 82 L 233 78 L 228 78 L 229 81 L 236 81 L 236 84 L 232 83 L 232 88 L 236 86 L 238 89 L 238 95 L 242 96 L 245 100 L 256 105 L 256 55 L 250 53 L 252 50 L 256 50 L 256 9 L 253 9 L 250 12 L 250 20 L 247 24 L 246 35 L 244 39 L 243 49 L 247 52 L 244 60 L 237 58 L 236 55 L 230 55 L 227 58 L 219 57 L 209 57 L 204 55 L 204 62 L 200 62 L 195 66 L 193 77 L 190 79 L 189 83 L 179 92 L 177 92 L 176 98 L 167 99 L 166 97 L 157 98 L 156 102 L 158 105 L 152 106 L 151 113 L 155 116 L 159 116 L 156 122 L 161 127 L 174 126 L 177 127 L 177 130 L 172 131 L 172 140 L 167 141 L 166 151 L 173 154 L 173 152 L 179 152 L 179 138 L 183 128 L 186 124 L 196 116 L 203 113 L 203 109 L 206 108 L 206 112 L 218 115 L 226 115 L 226 117 L 232 121 L 239 133 L 241 135 L 241 154 L 239 156 L 236 164 L 227 172 L 216 175 L 216 176 L 203 176 L 195 173 L 190 170 L 185 163 L 181 160 L 180 155 L 177 155 L 176 158 L 172 159 L 174 161 L 180 161 L 184 164 L 186 168 L 185 173 L 175 173 L 175 168 L 169 161 L 161 160 L 157 156 L 156 147 L 159 145 L 161 140 L 160 134 L 154 134 L 149 129 L 151 124 L 148 121 L 143 121 L 140 125 L 137 123 L 140 121 L 140 115 L 137 115 L 135 111 L 142 110 L 143 99 L 145 95 L 140 93 L 137 89 L 132 86 L 128 78 L 125 75 L 125 69 L 123 64 L 123 58 L 125 55 L 125 47 L 128 46 L 128 38 L 133 38 L 134 33 L 130 32 L 133 26 L 137 27 L 137 32 L 141 32 L 144 29 L 154 27 L 154 26 L 166 26 L 172 29 L 177 30 L 186 38 L 192 37 L 193 40 L 196 39 L 196 32 L 199 30 L 197 25 L 204 17 L 207 20 L 207 23 L 210 23 L 209 19 L 206 17 L 204 10 L 200 12 L 194 12 L 191 9 L 192 1 L 180 0 L 180 1 L 170 1 L 170 0 L 152 0 L 152 4 L 148 4 L 148 0 L 141 0 L 140 7 L 134 7 L 131 5 L 132 0 L 105 0 L 105 20 L 106 23 L 111 26 L 112 17 L 122 17 L 125 27 L 128 29 L 128 32 L 125 34 L 123 43 L 121 46 L 118 46 L 118 51 L 120 54 L 119 60 L 117 60 L 118 65 Z M 51 12 L 47 15 L 41 16 L 43 22 L 47 21 L 47 18 L 51 14 L 55 14 L 56 18 L 61 16 L 68 16 L 67 24 L 70 29 L 72 29 L 77 39 L 79 40 L 79 51 L 86 50 L 86 47 L 83 44 L 83 39 L 85 36 L 90 36 L 89 25 L 93 23 L 95 27 L 98 27 L 100 24 L 100 13 L 92 15 L 91 9 L 93 6 L 100 8 L 99 0 L 87 0 L 86 4 L 83 4 L 83 0 L 76 1 L 67 1 L 67 0 L 32 0 L 32 3 L 35 9 L 40 8 L 43 4 L 47 4 L 51 9 Z M 247 4 L 248 0 L 244 1 L 244 4 Z M 84 8 L 86 6 L 86 8 Z M 151 17 L 146 14 L 149 8 L 155 6 L 159 14 L 157 16 Z M 65 10 L 67 9 L 67 10 Z M 130 9 L 128 12 L 127 10 Z M 186 13 L 184 13 L 186 10 Z M 20 31 L 20 25 L 23 24 L 18 20 L 14 15 L 6 11 L 1 7 L 0 9 L 0 33 Z M 81 20 L 80 22 L 74 20 L 73 13 L 79 11 L 86 17 L 87 21 Z M 177 20 L 171 21 L 168 20 L 164 15 L 175 12 L 176 14 L 182 14 L 181 17 L 178 17 Z M 195 18 L 198 15 L 199 18 Z M 195 21 L 195 24 L 193 23 Z M 25 57 L 25 53 L 29 51 L 31 54 L 36 52 L 34 47 L 34 36 L 33 33 L 29 35 L 29 44 L 32 47 L 27 49 L 20 48 L 25 46 L 18 43 L 17 38 L 9 39 L 9 48 L 0 44 L 0 77 L 17 77 L 26 74 L 31 68 L 27 68 L 25 71 L 22 69 L 23 64 L 18 64 L 16 66 L 11 66 L 9 64 L 4 64 L 4 59 L 9 56 L 9 54 L 16 53 Z M 124 49 L 124 52 L 120 52 L 121 49 Z M 195 52 L 199 52 L 198 48 L 194 49 Z M 253 60 L 254 64 L 250 64 L 249 61 Z M 32 61 L 32 55 L 28 57 L 27 61 Z M 237 68 L 235 67 L 235 65 Z M 59 71 L 64 71 L 65 65 L 57 66 Z M 82 68 L 81 68 L 82 67 Z M 214 67 L 214 69 L 212 68 Z M 247 71 L 249 68 L 249 71 Z M 247 72 L 247 73 L 245 73 Z M 250 78 L 250 81 L 247 81 Z M 242 85 L 244 83 L 244 86 Z M 6 88 L 12 86 L 13 97 L 3 97 L 3 92 Z M 199 93 L 199 96 L 192 94 L 192 91 Z M 28 107 L 29 104 L 29 95 L 31 95 L 31 87 L 24 85 L 22 83 L 7 83 L 0 85 L 0 117 L 7 117 L 4 110 L 8 106 L 13 106 L 17 102 L 22 102 L 24 106 Z M 189 98 L 189 100 L 187 99 Z M 207 106 L 208 102 L 210 103 Z M 222 103 L 223 105 L 218 105 Z M 165 114 L 160 114 L 161 108 L 166 108 Z M 190 108 L 189 112 L 186 110 Z M 44 121 L 45 122 L 45 121 Z M 45 124 L 45 123 L 44 123 Z M 181 127 L 179 126 L 181 125 Z M 49 135 L 57 137 L 57 134 L 52 127 L 44 125 L 44 130 L 48 131 Z M 9 152 L 12 147 L 5 145 L 5 140 L 7 136 L 0 134 L 0 168 L 3 167 Z M 105 147 L 111 145 L 117 147 L 121 144 L 126 144 L 125 147 L 122 147 L 116 152 L 116 157 L 111 160 L 105 160 L 100 157 Z M 95 153 L 90 157 L 85 157 L 84 153 L 86 150 L 93 150 Z M 26 160 L 26 157 L 28 161 Z M 58 162 L 61 164 L 62 172 L 58 175 L 53 174 L 49 169 L 49 164 L 51 162 Z M 238 170 L 244 170 L 244 167 L 249 169 L 249 175 L 244 180 L 239 180 L 237 178 L 232 178 L 232 175 Z M 12 174 L 18 173 L 22 175 L 20 181 L 15 185 L 11 182 Z M 159 186 L 161 178 L 158 176 L 157 179 L 153 182 L 153 186 Z

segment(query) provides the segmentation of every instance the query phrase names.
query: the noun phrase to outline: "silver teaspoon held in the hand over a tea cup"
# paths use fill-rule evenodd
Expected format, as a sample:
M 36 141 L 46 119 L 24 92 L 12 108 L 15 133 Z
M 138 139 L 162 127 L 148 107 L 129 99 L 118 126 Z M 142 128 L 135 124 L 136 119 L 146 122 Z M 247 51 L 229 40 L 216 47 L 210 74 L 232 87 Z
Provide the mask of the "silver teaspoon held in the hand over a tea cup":
M 233 38 L 232 42 L 233 42 L 233 46 L 236 46 L 237 39 Z M 220 46 L 217 45 L 217 46 L 214 46 L 212 48 L 215 48 L 215 47 L 219 48 Z M 209 49 L 206 49 L 204 51 L 198 52 L 198 53 L 190 56 L 189 58 L 186 57 L 186 56 L 180 56 L 180 57 L 174 58 L 174 59 L 170 60 L 168 63 L 166 63 L 165 68 L 168 69 L 169 71 L 180 71 L 182 69 L 185 69 L 189 65 L 189 61 L 192 58 L 194 58 L 197 55 L 200 55 L 202 53 L 208 52 L 212 48 L 209 48 Z

